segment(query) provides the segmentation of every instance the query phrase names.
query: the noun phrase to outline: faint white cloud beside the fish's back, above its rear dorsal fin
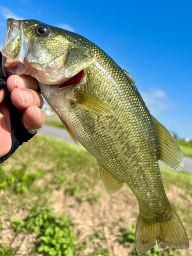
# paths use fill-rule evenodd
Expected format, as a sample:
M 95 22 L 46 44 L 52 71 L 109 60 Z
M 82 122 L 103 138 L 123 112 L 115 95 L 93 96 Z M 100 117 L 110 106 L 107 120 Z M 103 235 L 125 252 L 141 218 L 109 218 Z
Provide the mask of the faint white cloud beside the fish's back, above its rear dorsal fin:
M 162 90 L 150 90 L 150 92 L 141 92 L 141 96 L 152 115 L 172 108 L 173 103 L 168 99 L 166 92 Z

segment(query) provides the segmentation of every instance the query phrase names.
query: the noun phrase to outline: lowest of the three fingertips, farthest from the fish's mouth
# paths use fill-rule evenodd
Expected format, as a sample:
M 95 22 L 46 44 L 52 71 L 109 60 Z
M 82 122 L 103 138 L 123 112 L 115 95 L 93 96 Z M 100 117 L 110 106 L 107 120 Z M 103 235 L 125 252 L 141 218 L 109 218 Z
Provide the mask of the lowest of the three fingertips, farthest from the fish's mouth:
M 39 129 L 45 122 L 45 115 L 37 106 L 30 106 L 23 114 L 23 124 L 27 130 Z M 29 132 L 33 133 L 33 132 Z M 36 131 L 34 131 L 36 133 Z

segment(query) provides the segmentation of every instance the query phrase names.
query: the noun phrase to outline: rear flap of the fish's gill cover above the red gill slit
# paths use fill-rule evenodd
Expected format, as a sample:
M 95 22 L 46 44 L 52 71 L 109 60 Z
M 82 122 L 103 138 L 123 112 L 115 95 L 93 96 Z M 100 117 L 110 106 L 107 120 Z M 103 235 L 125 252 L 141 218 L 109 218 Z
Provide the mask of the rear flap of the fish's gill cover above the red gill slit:
M 66 77 L 72 77 L 96 62 L 94 52 L 88 47 L 76 46 L 69 50 L 65 59 Z

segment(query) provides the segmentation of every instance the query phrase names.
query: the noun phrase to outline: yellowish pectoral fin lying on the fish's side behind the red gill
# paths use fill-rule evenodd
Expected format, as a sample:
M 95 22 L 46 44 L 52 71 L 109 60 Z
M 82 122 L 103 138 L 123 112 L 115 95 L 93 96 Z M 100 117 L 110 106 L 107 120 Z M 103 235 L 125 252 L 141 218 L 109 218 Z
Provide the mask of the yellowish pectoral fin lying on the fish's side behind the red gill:
M 113 110 L 103 101 L 94 97 L 89 93 L 77 91 L 78 97 L 76 105 L 82 106 L 82 108 L 105 115 L 114 115 Z

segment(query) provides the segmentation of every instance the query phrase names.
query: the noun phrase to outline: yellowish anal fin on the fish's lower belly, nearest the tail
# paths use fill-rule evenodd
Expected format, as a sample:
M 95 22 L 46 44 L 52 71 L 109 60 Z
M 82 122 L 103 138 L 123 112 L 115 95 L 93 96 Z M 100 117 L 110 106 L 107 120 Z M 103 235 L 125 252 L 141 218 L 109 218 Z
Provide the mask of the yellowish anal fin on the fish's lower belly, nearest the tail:
M 112 195 L 123 187 L 123 182 L 98 163 L 99 174 L 106 193 Z

